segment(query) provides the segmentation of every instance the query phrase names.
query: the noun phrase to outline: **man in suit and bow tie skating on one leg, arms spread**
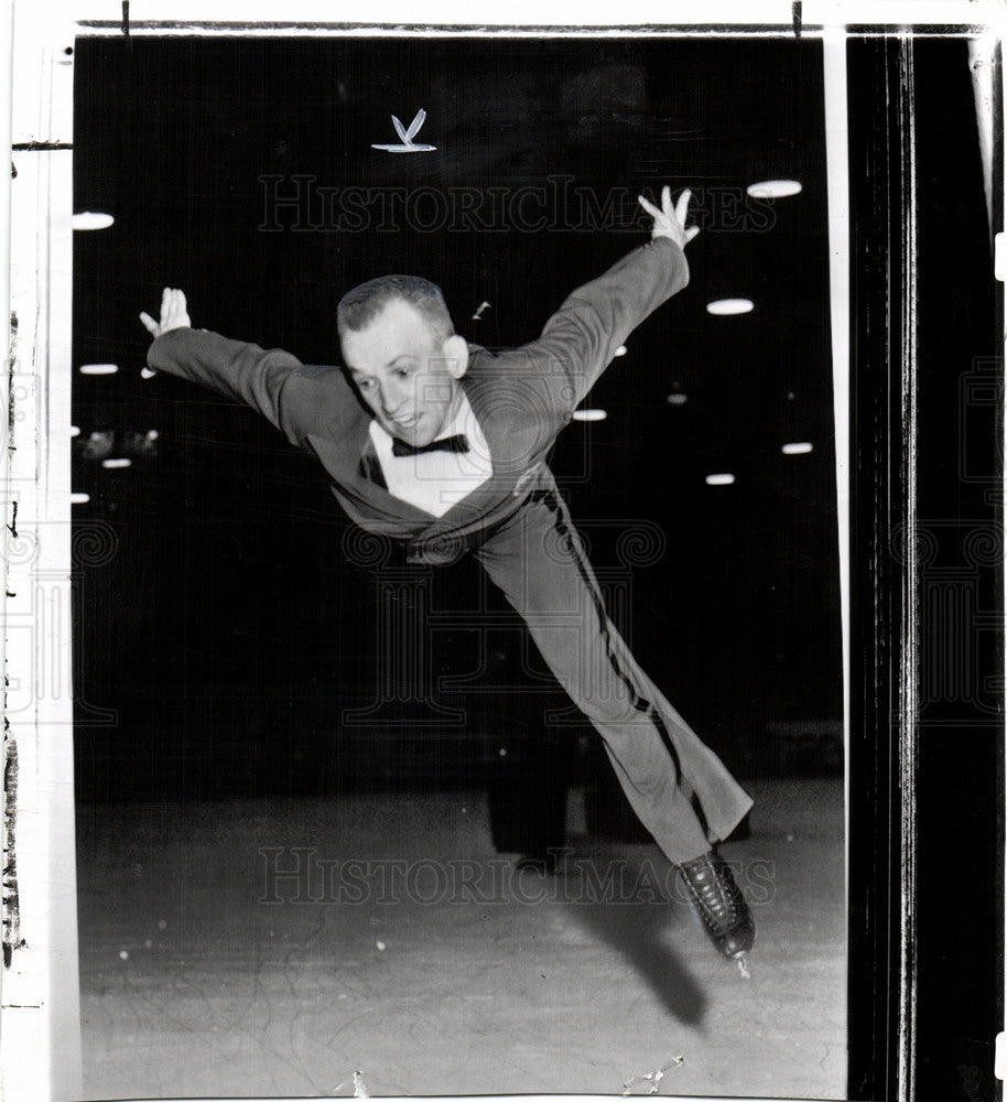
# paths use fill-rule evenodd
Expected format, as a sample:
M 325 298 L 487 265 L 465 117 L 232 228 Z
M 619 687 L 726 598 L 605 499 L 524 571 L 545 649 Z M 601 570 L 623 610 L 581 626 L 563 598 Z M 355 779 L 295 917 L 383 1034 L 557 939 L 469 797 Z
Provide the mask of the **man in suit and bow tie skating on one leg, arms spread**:
M 165 289 L 149 366 L 252 406 L 325 468 L 351 520 L 416 563 L 475 555 L 521 615 L 559 683 L 600 734 L 626 796 L 679 868 L 716 948 L 740 959 L 755 927 L 718 855 L 750 798 L 637 666 L 609 620 L 546 465 L 556 434 L 632 329 L 689 281 L 690 194 L 652 239 L 574 291 L 542 335 L 490 353 L 454 332 L 440 290 L 390 276 L 348 292 L 345 369 L 191 327 Z

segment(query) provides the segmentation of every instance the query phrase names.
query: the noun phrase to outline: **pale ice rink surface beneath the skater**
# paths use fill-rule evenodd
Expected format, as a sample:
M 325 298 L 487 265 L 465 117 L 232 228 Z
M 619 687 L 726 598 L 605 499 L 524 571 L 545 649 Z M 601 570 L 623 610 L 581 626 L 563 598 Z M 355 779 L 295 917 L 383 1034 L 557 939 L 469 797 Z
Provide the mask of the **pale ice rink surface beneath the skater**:
M 845 1098 L 842 780 L 746 787 L 750 980 L 576 792 L 555 876 L 476 790 L 82 808 L 85 1098 Z

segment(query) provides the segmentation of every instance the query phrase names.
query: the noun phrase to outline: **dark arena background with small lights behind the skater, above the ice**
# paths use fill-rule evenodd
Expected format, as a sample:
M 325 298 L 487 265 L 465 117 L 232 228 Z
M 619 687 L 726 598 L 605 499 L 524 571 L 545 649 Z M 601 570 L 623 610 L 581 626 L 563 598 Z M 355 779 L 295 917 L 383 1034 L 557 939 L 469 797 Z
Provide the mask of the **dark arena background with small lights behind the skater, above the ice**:
M 82 799 L 451 784 L 499 769 L 501 743 L 508 767 L 545 728 L 569 744 L 576 726 L 543 713 L 565 698 L 529 677 L 520 625 L 452 627 L 484 601 L 466 564 L 418 599 L 443 614 L 432 678 L 474 685 L 388 703 L 380 727 L 347 722 L 375 699 L 385 607 L 321 469 L 256 414 L 142 380 L 137 314 L 181 287 L 195 325 L 332 364 L 338 296 L 408 271 L 443 287 L 469 339 L 510 346 L 647 239 L 635 196 L 664 183 L 696 192 L 692 283 L 634 334 L 588 399 L 607 420 L 571 425 L 553 468 L 603 581 L 621 586 L 637 657 L 703 737 L 743 777 L 841 769 L 819 43 L 85 40 L 76 82 L 75 208 L 116 222 L 75 235 L 75 366 L 119 365 L 75 376 L 74 489 L 90 495 L 75 518 L 115 533 L 107 561 L 77 572 Z M 436 152 L 370 148 L 420 107 L 415 140 Z M 336 230 L 320 201 L 296 229 L 296 210 L 266 208 L 270 174 L 505 195 L 565 176 L 595 217 L 556 204 L 539 230 L 498 217 L 423 231 L 373 207 Z M 802 193 L 746 199 L 776 177 Z M 755 311 L 705 312 L 730 296 Z M 129 469 L 86 457 L 93 432 L 113 432 L 121 456 L 150 430 Z M 791 441 L 814 451 L 782 455 Z M 733 486 L 705 484 L 725 471 Z M 667 547 L 626 575 L 616 541 L 635 521 Z

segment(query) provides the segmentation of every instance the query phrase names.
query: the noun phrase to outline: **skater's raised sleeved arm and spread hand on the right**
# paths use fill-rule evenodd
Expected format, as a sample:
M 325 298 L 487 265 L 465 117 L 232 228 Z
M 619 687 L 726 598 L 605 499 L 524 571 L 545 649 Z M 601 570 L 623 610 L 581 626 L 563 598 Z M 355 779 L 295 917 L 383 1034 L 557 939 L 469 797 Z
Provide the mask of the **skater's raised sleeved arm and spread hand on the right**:
M 640 196 L 654 219 L 650 244 L 577 288 L 546 322 L 542 336 L 524 346 L 572 383 L 570 409 L 583 400 L 629 334 L 689 283 L 684 248 L 700 231 L 685 227 L 691 197 L 686 190 L 673 204 L 664 187 L 659 208 Z

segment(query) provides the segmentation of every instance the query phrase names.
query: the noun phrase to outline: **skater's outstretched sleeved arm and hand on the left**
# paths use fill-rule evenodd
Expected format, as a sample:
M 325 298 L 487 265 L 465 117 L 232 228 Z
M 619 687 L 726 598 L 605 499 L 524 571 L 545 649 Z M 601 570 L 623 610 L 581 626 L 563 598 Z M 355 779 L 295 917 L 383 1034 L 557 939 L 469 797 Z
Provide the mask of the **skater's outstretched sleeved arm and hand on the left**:
M 154 338 L 147 354 L 148 366 L 154 371 L 188 379 L 251 406 L 292 444 L 301 443 L 305 432 L 303 403 L 288 401 L 285 393 L 288 383 L 304 370 L 295 356 L 194 329 L 185 295 L 176 288 L 164 289 L 158 321 L 148 313 L 141 313 L 140 321 Z

